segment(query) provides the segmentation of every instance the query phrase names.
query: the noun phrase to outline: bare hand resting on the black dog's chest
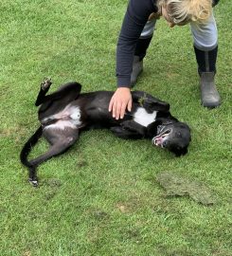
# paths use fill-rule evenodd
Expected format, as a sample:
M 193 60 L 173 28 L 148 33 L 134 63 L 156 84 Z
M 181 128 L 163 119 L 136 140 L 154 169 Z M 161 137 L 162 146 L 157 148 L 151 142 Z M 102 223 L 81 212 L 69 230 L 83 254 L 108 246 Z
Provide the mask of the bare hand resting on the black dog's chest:
M 123 119 L 126 108 L 128 111 L 132 110 L 132 94 L 130 88 L 119 87 L 111 98 L 109 104 L 109 112 L 112 111 L 114 119 Z

